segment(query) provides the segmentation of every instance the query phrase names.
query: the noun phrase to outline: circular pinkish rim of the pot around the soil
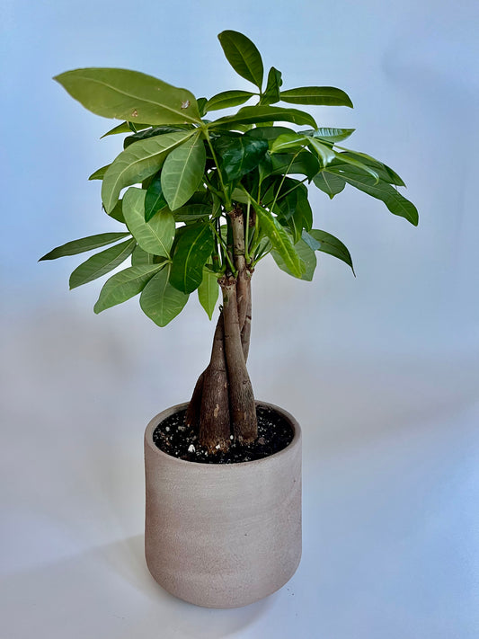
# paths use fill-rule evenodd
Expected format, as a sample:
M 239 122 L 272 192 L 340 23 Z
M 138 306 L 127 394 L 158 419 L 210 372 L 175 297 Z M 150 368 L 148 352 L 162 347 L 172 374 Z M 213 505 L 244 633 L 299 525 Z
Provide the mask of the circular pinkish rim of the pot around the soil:
M 173 455 L 168 455 L 161 448 L 158 448 L 153 441 L 153 432 L 158 426 L 160 422 L 163 422 L 166 417 L 169 417 L 173 413 L 179 413 L 184 410 L 188 406 L 188 402 L 184 402 L 182 404 L 175 404 L 174 406 L 170 406 L 169 408 L 165 408 L 161 413 L 155 415 L 155 417 L 148 422 L 145 430 L 145 445 L 153 450 L 155 455 L 159 457 L 164 457 L 170 463 L 184 464 L 186 466 L 202 466 L 207 468 L 241 468 L 241 467 L 253 467 L 258 466 L 260 464 L 268 463 L 270 459 L 278 459 L 281 455 L 291 454 L 291 452 L 301 446 L 301 427 L 299 426 L 297 420 L 285 411 L 284 408 L 277 406 L 276 404 L 271 404 L 270 402 L 263 402 L 262 400 L 255 400 L 256 405 L 265 406 L 266 408 L 271 408 L 275 413 L 279 413 L 282 417 L 284 417 L 288 422 L 291 428 L 294 431 L 293 439 L 289 442 L 286 448 L 281 448 L 277 453 L 272 453 L 272 455 L 268 455 L 267 457 L 262 457 L 261 459 L 252 459 L 251 461 L 245 462 L 234 462 L 232 464 L 205 464 L 202 462 L 189 461 L 188 459 L 181 459 L 179 457 L 174 457 Z M 166 414 L 168 413 L 168 414 Z

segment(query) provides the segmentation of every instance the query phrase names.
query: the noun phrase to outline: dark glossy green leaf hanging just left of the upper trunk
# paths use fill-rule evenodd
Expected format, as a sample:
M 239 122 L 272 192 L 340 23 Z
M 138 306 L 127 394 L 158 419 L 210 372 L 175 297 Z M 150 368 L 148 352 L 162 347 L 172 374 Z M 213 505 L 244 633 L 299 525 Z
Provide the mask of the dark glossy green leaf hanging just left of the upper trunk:
M 192 293 L 203 279 L 203 267 L 214 248 L 214 238 L 207 222 L 181 229 L 173 254 L 170 282 L 183 293 Z

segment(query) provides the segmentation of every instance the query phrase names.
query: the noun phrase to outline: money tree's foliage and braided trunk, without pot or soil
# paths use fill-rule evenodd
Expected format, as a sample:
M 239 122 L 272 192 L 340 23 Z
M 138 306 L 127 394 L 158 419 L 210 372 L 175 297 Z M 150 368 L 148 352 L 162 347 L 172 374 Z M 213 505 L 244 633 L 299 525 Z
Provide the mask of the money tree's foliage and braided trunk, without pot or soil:
M 211 319 L 221 292 L 211 359 L 185 417 L 210 453 L 226 450 L 232 440 L 243 445 L 257 438 L 246 361 L 251 282 L 259 262 L 271 253 L 282 271 L 312 280 L 320 251 L 352 269 L 346 246 L 314 227 L 306 183 L 330 198 L 350 185 L 418 223 L 417 210 L 397 191 L 404 182 L 393 169 L 340 146 L 354 129 L 319 127 L 296 108 L 352 107 L 346 93 L 331 86 L 284 89 L 277 68 L 264 78 L 262 57 L 242 33 L 223 31 L 218 39 L 251 91 L 197 99 L 151 75 L 120 68 L 76 69 L 55 77 L 86 109 L 121 120 L 105 135 L 127 134 L 123 150 L 90 180 L 102 181 L 102 208 L 125 228 L 68 242 L 41 258 L 111 244 L 73 271 L 70 288 L 126 262 L 105 282 L 94 312 L 139 294 L 142 310 L 159 326 L 171 322 L 194 291 Z M 232 113 L 232 107 L 241 108 Z M 223 109 L 230 111 L 217 114 Z

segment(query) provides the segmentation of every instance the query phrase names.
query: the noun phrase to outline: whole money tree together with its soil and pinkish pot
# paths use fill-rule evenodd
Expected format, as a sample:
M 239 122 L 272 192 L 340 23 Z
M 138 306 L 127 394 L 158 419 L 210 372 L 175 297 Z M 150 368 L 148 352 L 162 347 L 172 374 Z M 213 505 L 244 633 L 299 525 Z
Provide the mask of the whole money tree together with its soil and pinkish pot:
M 55 78 L 93 113 L 121 120 L 105 135 L 127 134 L 123 150 L 90 179 L 102 181 L 103 209 L 125 228 L 41 259 L 101 248 L 73 271 L 70 288 L 130 260 L 106 281 L 94 311 L 139 295 L 159 326 L 195 291 L 211 319 L 221 293 L 211 359 L 190 402 L 146 428 L 146 562 L 178 597 L 227 608 L 278 590 L 301 555 L 300 429 L 283 409 L 255 402 L 246 368 L 253 273 L 270 253 L 300 280 L 312 280 L 316 251 L 353 268 L 346 246 L 314 227 L 306 182 L 330 198 L 353 186 L 413 225 L 418 214 L 397 191 L 404 182 L 395 171 L 342 146 L 354 129 L 320 128 L 297 109 L 352 107 L 346 93 L 283 89 L 275 67 L 264 81 L 251 40 L 236 31 L 218 38 L 251 91 L 196 99 L 117 68 Z M 232 107 L 241 108 L 217 117 Z

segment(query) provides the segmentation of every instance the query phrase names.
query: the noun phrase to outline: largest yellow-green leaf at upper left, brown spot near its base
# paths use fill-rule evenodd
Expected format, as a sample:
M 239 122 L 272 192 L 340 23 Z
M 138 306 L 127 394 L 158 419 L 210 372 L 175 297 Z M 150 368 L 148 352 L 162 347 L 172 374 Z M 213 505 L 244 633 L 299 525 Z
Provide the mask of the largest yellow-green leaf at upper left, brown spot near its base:
M 152 75 L 116 68 L 84 68 L 53 78 L 86 109 L 104 118 L 149 124 L 200 123 L 195 97 Z

